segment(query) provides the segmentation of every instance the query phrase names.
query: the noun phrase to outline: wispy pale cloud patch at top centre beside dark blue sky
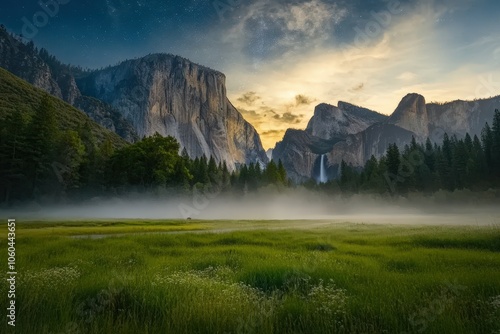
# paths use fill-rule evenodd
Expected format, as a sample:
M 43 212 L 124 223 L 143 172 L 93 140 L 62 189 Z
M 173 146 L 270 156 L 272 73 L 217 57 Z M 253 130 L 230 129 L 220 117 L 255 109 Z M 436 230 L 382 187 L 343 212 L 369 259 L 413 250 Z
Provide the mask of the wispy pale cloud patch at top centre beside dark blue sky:
M 243 7 L 243 6 L 242 6 Z M 347 10 L 322 0 L 257 0 L 241 8 L 224 41 L 256 61 L 318 47 L 332 38 Z

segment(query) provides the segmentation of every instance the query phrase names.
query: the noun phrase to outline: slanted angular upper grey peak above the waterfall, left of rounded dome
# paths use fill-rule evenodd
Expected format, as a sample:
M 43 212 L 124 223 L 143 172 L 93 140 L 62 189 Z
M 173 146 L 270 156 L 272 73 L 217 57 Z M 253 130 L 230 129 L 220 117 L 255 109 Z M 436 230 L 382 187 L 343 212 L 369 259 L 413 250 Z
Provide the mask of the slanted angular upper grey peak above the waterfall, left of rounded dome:
M 307 133 L 328 140 L 361 132 L 387 118 L 375 111 L 346 102 L 339 102 L 338 105 L 338 107 L 324 103 L 318 105 L 307 125 Z

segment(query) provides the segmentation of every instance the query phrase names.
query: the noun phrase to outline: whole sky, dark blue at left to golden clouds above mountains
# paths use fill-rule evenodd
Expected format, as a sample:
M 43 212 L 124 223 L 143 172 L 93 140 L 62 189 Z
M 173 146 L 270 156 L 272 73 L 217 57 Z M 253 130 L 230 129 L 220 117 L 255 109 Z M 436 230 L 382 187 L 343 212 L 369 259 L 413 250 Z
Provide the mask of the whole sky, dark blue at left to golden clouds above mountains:
M 391 114 L 500 95 L 497 0 L 2 0 L 0 23 L 61 61 L 100 68 L 166 52 L 226 75 L 272 148 L 320 103 Z

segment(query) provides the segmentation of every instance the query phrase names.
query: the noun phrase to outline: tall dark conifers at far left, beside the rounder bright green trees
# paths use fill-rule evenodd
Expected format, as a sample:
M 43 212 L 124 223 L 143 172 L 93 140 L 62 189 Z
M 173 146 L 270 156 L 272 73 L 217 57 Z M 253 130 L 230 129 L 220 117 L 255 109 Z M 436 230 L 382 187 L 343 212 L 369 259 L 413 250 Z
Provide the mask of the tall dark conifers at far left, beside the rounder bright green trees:
M 75 130 L 58 126 L 49 96 L 31 116 L 14 109 L 0 123 L 0 202 L 50 196 L 102 185 L 112 141 L 97 144 L 90 120 Z

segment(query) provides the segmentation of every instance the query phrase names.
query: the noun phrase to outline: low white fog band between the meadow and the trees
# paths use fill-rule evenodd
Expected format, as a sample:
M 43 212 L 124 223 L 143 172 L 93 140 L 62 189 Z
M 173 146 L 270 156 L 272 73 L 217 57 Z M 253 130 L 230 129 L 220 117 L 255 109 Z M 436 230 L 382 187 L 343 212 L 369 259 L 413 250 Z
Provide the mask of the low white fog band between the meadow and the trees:
M 480 201 L 478 201 L 480 203 Z M 373 224 L 500 225 L 500 206 L 490 202 L 439 203 L 435 198 L 329 197 L 315 192 L 196 195 L 151 199 L 144 196 L 101 199 L 75 205 L 31 204 L 0 211 L 17 219 L 223 219 L 335 220 Z

